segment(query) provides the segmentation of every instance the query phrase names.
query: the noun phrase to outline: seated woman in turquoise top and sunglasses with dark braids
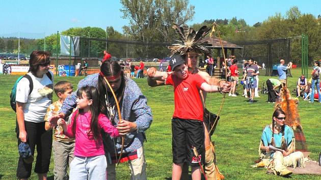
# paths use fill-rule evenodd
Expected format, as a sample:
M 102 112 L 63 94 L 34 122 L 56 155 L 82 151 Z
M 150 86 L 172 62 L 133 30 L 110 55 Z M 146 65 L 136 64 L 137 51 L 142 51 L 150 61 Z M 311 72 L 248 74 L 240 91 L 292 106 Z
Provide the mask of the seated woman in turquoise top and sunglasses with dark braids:
M 305 167 L 305 164 L 303 153 L 295 152 L 293 131 L 284 121 L 285 113 L 281 109 L 275 110 L 272 124 L 264 128 L 261 136 L 260 152 L 263 161 L 257 167 L 267 166 L 276 175 L 288 176 L 292 171 L 286 167 Z M 271 145 L 280 151 L 272 151 Z

